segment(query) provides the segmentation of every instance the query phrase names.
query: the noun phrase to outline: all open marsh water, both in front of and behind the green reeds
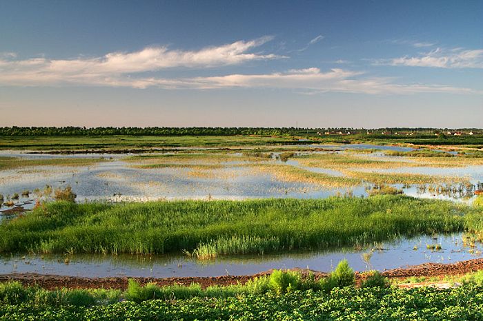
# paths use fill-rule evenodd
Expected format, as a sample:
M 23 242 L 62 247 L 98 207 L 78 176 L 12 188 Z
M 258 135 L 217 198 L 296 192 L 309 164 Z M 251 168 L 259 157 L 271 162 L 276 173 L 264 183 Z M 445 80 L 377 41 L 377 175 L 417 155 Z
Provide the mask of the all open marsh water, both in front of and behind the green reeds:
M 308 145 L 300 145 L 307 147 Z M 310 147 L 340 152 L 344 149 L 379 149 L 380 152 L 361 154 L 359 157 L 376 157 L 382 161 L 398 161 L 400 158 L 386 156 L 384 150 L 408 152 L 411 147 L 377 145 L 310 145 Z M 200 149 L 202 152 L 202 149 Z M 193 151 L 192 151 L 193 152 Z M 321 153 L 324 153 L 322 151 Z M 103 158 L 103 161 L 89 166 L 31 166 L 0 171 L 0 194 L 4 196 L 21 194 L 24 190 L 33 191 L 51 187 L 70 185 L 77 194 L 77 202 L 104 201 L 145 201 L 159 199 L 246 199 L 246 198 L 326 198 L 335 195 L 367 196 L 367 186 L 351 188 L 322 188 L 312 183 L 278 180 L 268 172 L 255 171 L 246 162 L 230 161 L 216 169 L 215 175 L 195 175 L 192 169 L 182 167 L 137 168 L 126 161 L 129 154 L 25 154 L 0 152 L 0 156 L 14 156 L 28 159 L 39 158 Z M 240 155 L 241 156 L 241 155 Z M 275 163 L 282 161 L 273 158 Z M 304 167 L 296 158 L 290 158 L 285 165 L 299 167 L 311 172 L 344 176 L 335 169 Z M 440 198 L 453 201 L 471 202 L 475 189 L 482 189 L 483 166 L 466 167 L 397 167 L 393 169 L 359 169 L 362 172 L 413 173 L 435 176 L 466 178 L 470 185 L 457 189 L 434 189 L 428 185 L 393 185 L 404 194 L 421 198 Z M 24 209 L 32 209 L 37 196 L 30 194 L 20 197 L 14 207 L 6 204 L 0 207 L 0 221 L 19 215 Z M 19 210 L 19 211 L 16 211 Z M 6 222 L 4 222 L 6 223 Z M 440 244 L 440 251 L 426 249 L 426 245 Z M 365 253 L 365 254 L 364 254 Z M 315 253 L 280 253 L 266 256 L 244 256 L 218 258 L 201 261 L 187 256 L 3 256 L 0 257 L 0 273 L 43 273 L 66 276 L 221 276 L 246 275 L 268 269 L 309 268 L 318 271 L 331 271 L 339 260 L 347 258 L 356 270 L 391 269 L 424 262 L 457 262 L 480 256 L 480 250 L 467 248 L 462 242 L 462 234 L 446 236 L 420 236 L 385 242 L 364 249 L 331 249 Z M 66 261 L 66 258 L 68 260 Z M 368 259 L 369 258 L 369 259 Z M 68 264 L 66 264 L 68 262 Z

